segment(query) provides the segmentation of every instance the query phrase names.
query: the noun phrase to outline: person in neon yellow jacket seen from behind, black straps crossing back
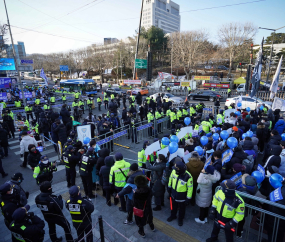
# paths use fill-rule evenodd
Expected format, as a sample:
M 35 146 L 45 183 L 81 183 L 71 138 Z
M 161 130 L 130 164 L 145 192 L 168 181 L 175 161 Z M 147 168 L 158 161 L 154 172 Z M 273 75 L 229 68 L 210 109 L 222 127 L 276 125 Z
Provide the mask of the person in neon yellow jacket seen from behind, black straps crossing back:
M 115 186 L 116 192 L 119 193 L 126 185 L 127 175 L 130 171 L 131 164 L 124 160 L 124 157 L 121 153 L 115 154 L 115 160 L 115 164 L 111 167 L 110 170 L 109 183 L 113 184 Z M 120 196 L 120 202 L 121 207 L 119 210 L 122 212 L 127 212 L 124 196 Z

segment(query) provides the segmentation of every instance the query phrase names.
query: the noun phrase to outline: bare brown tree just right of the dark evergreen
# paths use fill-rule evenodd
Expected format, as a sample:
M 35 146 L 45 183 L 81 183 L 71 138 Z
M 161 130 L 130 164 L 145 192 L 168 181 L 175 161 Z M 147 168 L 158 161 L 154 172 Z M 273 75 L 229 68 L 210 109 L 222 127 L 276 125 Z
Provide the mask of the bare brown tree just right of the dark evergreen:
M 188 80 L 207 50 L 204 45 L 207 40 L 208 33 L 205 30 L 177 32 L 170 36 L 169 48 L 172 48 L 173 63 L 175 66 L 183 65 Z

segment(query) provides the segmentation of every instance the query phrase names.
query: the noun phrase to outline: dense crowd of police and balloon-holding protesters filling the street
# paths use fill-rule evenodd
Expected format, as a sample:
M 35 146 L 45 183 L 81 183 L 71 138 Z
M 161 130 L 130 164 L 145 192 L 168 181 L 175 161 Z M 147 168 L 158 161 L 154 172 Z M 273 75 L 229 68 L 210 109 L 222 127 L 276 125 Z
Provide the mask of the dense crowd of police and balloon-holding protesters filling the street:
M 171 207 L 167 218 L 169 223 L 177 219 L 178 225 L 183 226 L 185 214 L 189 212 L 186 212 L 187 205 L 197 205 L 200 209 L 195 222 L 205 224 L 208 218 L 214 220 L 211 237 L 207 242 L 217 241 L 221 227 L 225 230 L 227 242 L 233 241 L 233 230 L 237 230 L 238 237 L 242 236 L 247 216 L 245 202 L 284 216 L 282 209 L 243 198 L 236 192 L 269 199 L 271 192 L 276 189 L 270 182 L 272 174 L 285 177 L 285 117 L 280 110 L 273 112 L 266 106 L 258 106 L 255 110 L 241 110 L 235 104 L 220 110 L 217 101 L 214 104 L 217 107 L 215 112 L 204 117 L 203 103 L 195 105 L 186 101 L 183 107 L 176 108 L 159 95 L 155 100 L 149 96 L 143 100 L 141 95 L 131 95 L 129 106 L 126 105 L 127 97 L 122 97 L 123 111 L 119 118 L 120 98 L 111 95 L 109 101 L 107 94 L 104 94 L 103 100 L 97 98 L 98 108 L 103 102 L 107 104 L 106 113 L 96 118 L 89 112 L 82 123 L 91 124 L 92 138 L 95 134 L 112 135 L 117 128 L 127 125 L 129 138 L 132 137 L 132 141 L 138 143 L 136 128 L 139 121 L 153 122 L 154 119 L 169 117 L 170 134 L 165 134 L 165 130 L 159 125 L 157 130 L 149 130 L 149 136 L 154 138 L 153 142 L 160 142 L 161 150 L 168 148 L 168 152 L 162 154 L 157 150 L 146 156 L 145 152 L 151 142 L 144 141 L 138 152 L 138 161 L 130 164 L 125 161 L 122 153 L 110 155 L 113 152 L 112 142 L 101 147 L 95 139 L 86 139 L 82 143 L 77 138 L 73 127 L 75 117 L 67 104 L 62 105 L 60 112 L 55 112 L 52 108 L 38 108 L 38 121 L 33 116 L 29 117 L 28 112 L 27 117 L 23 118 L 25 127 L 19 137 L 20 155 L 24 157 L 21 166 L 26 167 L 29 164 L 33 169 L 33 177 L 40 188 L 35 202 L 49 226 L 52 241 L 62 240 L 56 237 L 55 224 L 63 227 L 67 241 L 74 239 L 70 224 L 62 213 L 64 201 L 60 195 L 54 195 L 52 190 L 51 182 L 53 172 L 57 169 L 56 164 L 37 149 L 39 140 L 35 134 L 44 134 L 48 138 L 50 133 L 55 144 L 58 141 L 62 144 L 62 161 L 70 195 L 65 207 L 70 211 L 78 240 L 85 235 L 87 241 L 93 241 L 91 213 L 94 211 L 94 204 L 91 199 L 97 196 L 98 189 L 103 190 L 106 206 L 112 206 L 112 197 L 113 204 L 120 202 L 119 210 L 126 213 L 126 219 L 122 222 L 132 225 L 135 220 L 138 234 L 142 237 L 146 236 L 146 224 L 155 231 L 153 211 L 162 212 L 168 201 Z M 73 112 L 74 109 L 76 105 L 73 106 Z M 227 109 L 232 109 L 233 112 Z M 4 114 L 4 117 L 9 116 L 9 112 L 5 110 Z M 4 120 L 4 117 L 1 129 L 6 132 L 1 132 L 1 135 L 8 142 L 9 133 L 12 135 L 8 125 L 10 118 Z M 190 121 L 186 123 L 185 118 Z M 193 132 L 178 139 L 177 134 L 181 129 L 190 126 Z M 159 133 L 164 133 L 161 139 L 158 139 Z M 234 146 L 231 138 L 237 142 Z M 177 150 L 173 150 L 176 139 L 177 149 L 183 149 L 183 156 L 173 156 Z M 5 147 L 5 139 L 1 138 L 1 145 Z M 58 152 L 57 145 L 54 148 Z M 189 158 L 184 159 L 186 155 Z M 6 153 L 2 155 L 5 156 Z M 225 159 L 226 156 L 229 158 Z M 258 169 L 258 165 L 264 169 L 262 182 L 252 173 Z M 85 196 L 81 195 L 76 184 L 77 166 Z M 236 175 L 240 177 L 238 184 L 232 179 Z M 2 176 L 7 176 L 7 173 L 2 173 Z M 45 224 L 38 216 L 28 212 L 29 193 L 21 188 L 23 180 L 23 175 L 17 172 L 10 181 L 0 186 L 5 224 L 13 232 L 12 241 L 43 241 Z M 285 188 L 282 184 L 281 182 L 280 189 L 285 199 Z M 216 192 L 218 186 L 221 189 Z M 153 208 L 152 199 L 155 204 Z M 284 205 L 284 199 L 276 203 Z M 277 241 L 283 241 L 283 224 L 285 222 L 280 221 Z M 272 241 L 273 225 L 274 218 L 267 215 L 265 229 L 269 241 Z

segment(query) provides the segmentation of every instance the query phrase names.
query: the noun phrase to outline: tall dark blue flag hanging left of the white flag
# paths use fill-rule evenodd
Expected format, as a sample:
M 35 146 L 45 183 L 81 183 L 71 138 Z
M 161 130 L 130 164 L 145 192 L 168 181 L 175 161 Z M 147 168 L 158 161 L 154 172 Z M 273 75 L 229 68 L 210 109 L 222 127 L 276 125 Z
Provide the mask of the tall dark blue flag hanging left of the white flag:
M 254 97 L 256 92 L 259 89 L 259 84 L 260 84 L 260 79 L 261 79 L 261 69 L 262 69 L 263 39 L 260 45 L 258 56 L 255 60 L 255 66 L 254 66 L 254 70 L 252 73 L 252 78 L 251 78 L 252 90 L 250 94 L 251 97 Z

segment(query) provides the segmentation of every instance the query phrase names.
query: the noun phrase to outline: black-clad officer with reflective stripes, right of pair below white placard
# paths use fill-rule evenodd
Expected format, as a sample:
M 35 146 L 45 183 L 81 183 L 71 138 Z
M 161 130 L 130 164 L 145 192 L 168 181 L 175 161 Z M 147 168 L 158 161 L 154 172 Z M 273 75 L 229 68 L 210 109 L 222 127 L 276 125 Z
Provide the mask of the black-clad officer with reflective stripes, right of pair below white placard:
M 89 147 L 85 155 L 83 155 L 79 162 L 79 174 L 83 183 L 83 188 L 86 196 L 95 198 L 92 193 L 92 170 L 96 164 L 96 157 L 94 155 L 94 148 Z

